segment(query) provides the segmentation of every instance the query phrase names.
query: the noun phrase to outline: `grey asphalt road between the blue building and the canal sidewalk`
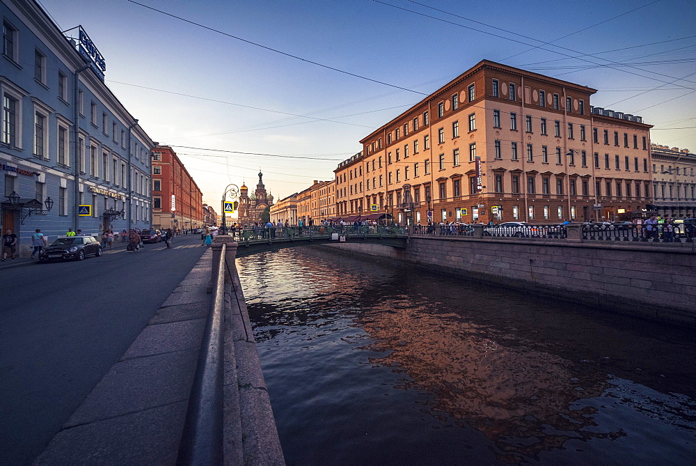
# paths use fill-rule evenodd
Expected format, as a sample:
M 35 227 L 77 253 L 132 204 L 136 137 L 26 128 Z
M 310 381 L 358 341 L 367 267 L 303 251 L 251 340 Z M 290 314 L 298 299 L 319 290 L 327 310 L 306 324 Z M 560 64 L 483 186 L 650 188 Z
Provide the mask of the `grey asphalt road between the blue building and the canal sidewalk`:
M 205 251 L 163 246 L 1 272 L 1 465 L 43 451 Z

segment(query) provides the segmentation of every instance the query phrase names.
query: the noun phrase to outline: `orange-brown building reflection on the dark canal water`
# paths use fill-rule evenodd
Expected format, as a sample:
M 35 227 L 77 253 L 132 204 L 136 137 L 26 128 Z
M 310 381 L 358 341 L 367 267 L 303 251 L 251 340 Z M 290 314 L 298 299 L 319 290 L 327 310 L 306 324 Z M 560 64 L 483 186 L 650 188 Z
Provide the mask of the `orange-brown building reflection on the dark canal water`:
M 604 378 L 587 373 L 580 380 L 572 362 L 528 348 L 515 336 L 493 340 L 484 327 L 431 316 L 412 302 L 388 302 L 360 326 L 377 340 L 370 350 L 388 352 L 370 362 L 408 374 L 413 380 L 404 388 L 428 391 L 434 412 L 480 430 L 503 451 L 500 460 L 534 457 L 571 437 L 622 435 L 588 432 L 593 411 L 571 410 L 580 399 L 600 396 L 608 387 Z

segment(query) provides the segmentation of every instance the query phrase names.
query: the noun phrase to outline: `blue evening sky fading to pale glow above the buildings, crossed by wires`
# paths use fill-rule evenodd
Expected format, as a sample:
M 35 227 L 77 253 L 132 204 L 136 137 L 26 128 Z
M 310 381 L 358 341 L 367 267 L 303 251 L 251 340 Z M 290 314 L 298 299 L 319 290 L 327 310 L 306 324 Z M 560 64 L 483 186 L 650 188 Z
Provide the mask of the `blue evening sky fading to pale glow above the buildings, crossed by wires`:
M 482 59 L 595 88 L 591 104 L 696 152 L 694 0 L 39 1 L 84 27 L 106 85 L 213 206 L 259 170 L 276 200 L 332 180 Z

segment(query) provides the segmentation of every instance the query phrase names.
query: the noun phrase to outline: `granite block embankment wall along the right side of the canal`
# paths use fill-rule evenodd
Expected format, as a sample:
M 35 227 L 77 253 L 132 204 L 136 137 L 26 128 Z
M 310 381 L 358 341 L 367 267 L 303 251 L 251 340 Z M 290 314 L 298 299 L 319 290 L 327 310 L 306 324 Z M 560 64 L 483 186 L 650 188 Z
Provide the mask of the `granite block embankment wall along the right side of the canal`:
M 686 246 L 411 237 L 406 249 L 327 247 L 696 327 L 696 254 Z

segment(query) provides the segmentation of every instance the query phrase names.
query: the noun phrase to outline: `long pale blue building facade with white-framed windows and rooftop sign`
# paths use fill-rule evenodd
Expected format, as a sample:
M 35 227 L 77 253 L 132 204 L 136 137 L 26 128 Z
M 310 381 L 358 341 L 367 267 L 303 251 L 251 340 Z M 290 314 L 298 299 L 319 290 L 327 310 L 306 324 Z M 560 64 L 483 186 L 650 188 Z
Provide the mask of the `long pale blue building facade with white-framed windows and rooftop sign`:
M 157 143 L 104 84 L 86 31 L 61 33 L 34 0 L 1 0 L 0 17 L 2 232 L 28 254 L 36 228 L 150 228 Z

